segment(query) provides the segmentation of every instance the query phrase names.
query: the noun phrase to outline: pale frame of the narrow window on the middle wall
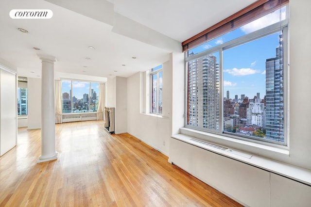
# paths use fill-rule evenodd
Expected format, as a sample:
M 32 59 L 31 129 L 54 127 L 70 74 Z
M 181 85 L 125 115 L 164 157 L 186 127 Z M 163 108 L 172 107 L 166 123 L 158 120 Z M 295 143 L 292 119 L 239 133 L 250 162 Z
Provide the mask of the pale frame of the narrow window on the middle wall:
M 157 68 L 157 67 L 159 67 L 159 66 L 161 66 L 160 68 Z M 155 69 L 155 68 L 157 68 L 157 69 Z M 154 70 L 155 69 L 155 70 Z M 160 81 L 159 81 L 159 79 L 160 79 L 160 77 L 159 77 L 159 74 L 160 74 L 160 72 L 162 73 L 162 78 L 163 78 L 163 64 L 160 64 L 160 65 L 158 65 L 158 66 L 156 66 L 156 67 L 154 67 L 154 68 L 151 68 L 150 70 L 149 70 L 149 88 L 150 88 L 150 106 L 149 106 L 149 109 L 150 109 L 150 113 L 151 114 L 156 114 L 156 115 L 162 115 L 162 113 L 159 113 L 159 101 L 160 101 Z M 156 106 L 155 106 L 155 109 L 156 109 L 156 112 L 153 112 L 153 110 L 152 110 L 152 97 L 153 97 L 153 79 L 152 79 L 152 76 L 153 75 L 155 75 L 156 74 L 156 100 L 155 100 L 155 104 L 156 104 Z M 162 90 L 163 90 L 163 81 L 162 81 Z M 163 110 L 163 109 L 162 109 Z

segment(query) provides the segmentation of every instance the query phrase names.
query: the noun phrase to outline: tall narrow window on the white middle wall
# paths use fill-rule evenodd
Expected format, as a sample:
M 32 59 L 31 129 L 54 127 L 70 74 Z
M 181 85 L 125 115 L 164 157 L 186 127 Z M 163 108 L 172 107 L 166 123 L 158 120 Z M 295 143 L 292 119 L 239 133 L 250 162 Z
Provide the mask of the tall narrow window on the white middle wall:
M 162 64 L 150 70 L 151 113 L 162 114 Z

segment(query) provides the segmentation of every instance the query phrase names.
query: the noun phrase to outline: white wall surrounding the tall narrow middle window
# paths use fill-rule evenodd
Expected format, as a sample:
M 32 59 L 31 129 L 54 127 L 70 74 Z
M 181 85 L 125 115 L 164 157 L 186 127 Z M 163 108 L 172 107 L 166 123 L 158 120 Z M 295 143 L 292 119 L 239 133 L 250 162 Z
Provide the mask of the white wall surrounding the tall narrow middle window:
M 182 119 L 184 111 L 184 99 L 177 99 L 175 102 L 176 106 L 173 105 L 173 71 L 178 71 L 177 73 L 180 73 L 176 74 L 177 77 L 184 77 L 183 53 L 179 53 L 177 57 L 179 58 L 174 59 L 174 55 L 171 54 L 170 61 L 163 63 L 162 116 L 141 113 L 144 108 L 144 106 L 142 106 L 145 103 L 144 99 L 149 98 L 145 96 L 148 92 L 145 92 L 146 81 L 144 81 L 144 79 L 149 78 L 144 77 L 146 73 L 136 73 L 127 79 L 128 133 L 167 156 L 169 155 L 170 137 L 172 135 L 172 111 L 176 110 L 177 116 L 181 116 Z M 177 63 L 179 64 L 176 64 L 176 60 L 178 60 Z M 180 61 L 182 64 L 180 64 Z M 179 82 L 179 84 L 174 86 L 176 93 L 184 93 L 183 84 L 183 82 Z M 182 108 L 181 111 L 178 111 L 180 108 Z M 181 120 L 181 123 L 182 125 L 178 126 L 178 128 L 183 127 L 183 120 Z

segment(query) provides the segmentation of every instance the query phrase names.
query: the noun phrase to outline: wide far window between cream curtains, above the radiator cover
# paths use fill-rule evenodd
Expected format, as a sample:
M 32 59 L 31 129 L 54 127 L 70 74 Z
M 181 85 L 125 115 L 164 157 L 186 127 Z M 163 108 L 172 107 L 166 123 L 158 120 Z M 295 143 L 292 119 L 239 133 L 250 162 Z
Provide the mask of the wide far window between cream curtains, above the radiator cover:
M 98 82 L 62 80 L 63 113 L 97 112 Z

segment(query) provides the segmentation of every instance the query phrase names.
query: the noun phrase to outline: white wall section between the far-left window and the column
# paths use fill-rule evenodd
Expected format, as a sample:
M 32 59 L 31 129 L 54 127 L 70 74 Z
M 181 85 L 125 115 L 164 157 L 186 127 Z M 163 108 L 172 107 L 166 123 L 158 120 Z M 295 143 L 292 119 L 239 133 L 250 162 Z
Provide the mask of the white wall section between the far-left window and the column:
M 28 129 L 41 128 L 41 79 L 28 78 Z

